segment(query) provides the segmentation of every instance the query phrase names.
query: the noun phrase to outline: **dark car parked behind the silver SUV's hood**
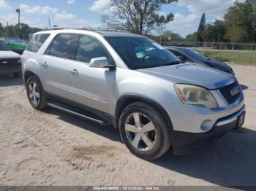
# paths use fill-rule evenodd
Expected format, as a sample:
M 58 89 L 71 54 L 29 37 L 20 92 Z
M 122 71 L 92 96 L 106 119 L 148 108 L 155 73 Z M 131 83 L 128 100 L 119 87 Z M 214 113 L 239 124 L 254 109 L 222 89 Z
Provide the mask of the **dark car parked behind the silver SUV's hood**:
M 185 47 L 165 47 L 167 50 L 176 55 L 181 61 L 198 63 L 203 66 L 208 66 L 213 69 L 219 69 L 221 71 L 225 71 L 227 73 L 233 74 L 233 69 L 231 66 L 228 66 L 226 63 L 221 61 L 211 60 L 204 55 L 201 55 L 199 52 L 195 50 L 191 50 Z

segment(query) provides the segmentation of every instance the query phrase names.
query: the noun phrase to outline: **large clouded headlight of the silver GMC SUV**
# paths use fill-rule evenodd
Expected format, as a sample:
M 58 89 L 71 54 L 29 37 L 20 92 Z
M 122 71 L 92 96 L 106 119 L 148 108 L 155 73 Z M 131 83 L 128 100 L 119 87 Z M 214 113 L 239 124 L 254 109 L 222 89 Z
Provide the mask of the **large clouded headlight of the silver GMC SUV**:
M 175 85 L 176 93 L 184 104 L 206 106 L 208 109 L 218 107 L 214 96 L 203 87 L 195 85 Z

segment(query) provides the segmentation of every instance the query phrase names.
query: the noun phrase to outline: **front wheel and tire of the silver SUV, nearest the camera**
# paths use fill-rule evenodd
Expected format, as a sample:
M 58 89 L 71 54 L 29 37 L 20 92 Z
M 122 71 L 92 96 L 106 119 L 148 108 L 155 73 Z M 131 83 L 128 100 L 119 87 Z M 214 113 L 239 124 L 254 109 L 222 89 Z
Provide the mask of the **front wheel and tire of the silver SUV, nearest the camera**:
M 153 106 L 136 102 L 127 106 L 119 119 L 121 139 L 132 154 L 154 160 L 170 149 L 170 129 Z

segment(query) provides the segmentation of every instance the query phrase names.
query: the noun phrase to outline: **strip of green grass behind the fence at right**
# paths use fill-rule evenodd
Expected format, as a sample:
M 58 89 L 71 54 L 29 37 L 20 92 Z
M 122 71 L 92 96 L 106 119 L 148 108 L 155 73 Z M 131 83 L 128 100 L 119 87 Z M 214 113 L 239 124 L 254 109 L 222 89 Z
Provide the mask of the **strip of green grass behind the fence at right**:
M 197 49 L 203 55 L 208 58 L 212 58 L 218 61 L 224 61 L 228 63 L 238 63 L 246 65 L 256 66 L 256 51 L 252 51 L 252 56 L 250 58 L 250 51 L 246 50 L 204 50 Z

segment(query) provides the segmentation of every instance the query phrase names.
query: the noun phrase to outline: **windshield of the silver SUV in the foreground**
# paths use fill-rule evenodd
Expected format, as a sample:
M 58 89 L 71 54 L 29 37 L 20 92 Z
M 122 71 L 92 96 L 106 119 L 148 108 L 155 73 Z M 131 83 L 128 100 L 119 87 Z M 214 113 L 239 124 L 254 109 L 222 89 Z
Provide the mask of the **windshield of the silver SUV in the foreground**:
M 105 37 L 129 69 L 146 69 L 180 61 L 164 47 L 146 37 Z

